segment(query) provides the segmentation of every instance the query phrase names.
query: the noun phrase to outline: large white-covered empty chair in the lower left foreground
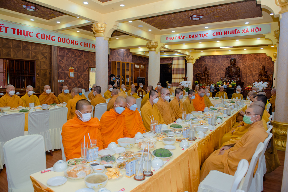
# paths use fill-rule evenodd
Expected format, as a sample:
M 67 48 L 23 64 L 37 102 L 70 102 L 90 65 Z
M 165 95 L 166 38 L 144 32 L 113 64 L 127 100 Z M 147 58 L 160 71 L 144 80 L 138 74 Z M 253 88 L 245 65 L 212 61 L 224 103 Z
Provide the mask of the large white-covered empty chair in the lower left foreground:
M 44 149 L 41 135 L 20 136 L 5 143 L 3 151 L 9 192 L 34 191 L 30 175 L 46 169 Z

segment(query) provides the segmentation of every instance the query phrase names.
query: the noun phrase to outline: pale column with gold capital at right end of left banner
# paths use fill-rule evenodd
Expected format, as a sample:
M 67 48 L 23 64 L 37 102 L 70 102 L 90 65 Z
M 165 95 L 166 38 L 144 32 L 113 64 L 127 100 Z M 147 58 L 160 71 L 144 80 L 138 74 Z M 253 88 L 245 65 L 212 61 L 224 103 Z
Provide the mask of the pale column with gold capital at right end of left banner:
M 106 91 L 108 86 L 108 41 L 104 39 L 104 33 L 106 30 L 106 23 L 97 22 L 93 23 L 92 30 L 95 33 L 95 82 L 96 85 L 102 88 L 101 95 Z

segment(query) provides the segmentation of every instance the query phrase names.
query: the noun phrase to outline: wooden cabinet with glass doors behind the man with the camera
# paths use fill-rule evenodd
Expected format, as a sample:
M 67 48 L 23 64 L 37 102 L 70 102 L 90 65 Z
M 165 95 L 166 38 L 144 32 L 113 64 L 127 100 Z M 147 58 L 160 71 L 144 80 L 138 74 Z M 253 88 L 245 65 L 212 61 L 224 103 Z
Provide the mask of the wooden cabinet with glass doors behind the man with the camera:
M 120 76 L 120 87 L 122 84 L 126 85 L 126 91 L 134 84 L 134 63 L 112 61 L 111 73 Z

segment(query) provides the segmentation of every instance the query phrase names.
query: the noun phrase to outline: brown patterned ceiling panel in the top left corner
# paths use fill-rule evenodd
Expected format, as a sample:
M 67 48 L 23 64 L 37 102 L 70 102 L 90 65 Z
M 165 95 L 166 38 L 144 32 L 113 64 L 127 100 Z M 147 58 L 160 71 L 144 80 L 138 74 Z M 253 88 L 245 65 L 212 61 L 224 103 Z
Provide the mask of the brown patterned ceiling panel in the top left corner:
M 31 5 L 37 7 L 37 11 L 27 11 L 23 8 L 23 5 Z M 59 17 L 62 15 L 66 15 L 65 13 L 58 12 L 53 9 L 49 9 L 48 7 L 43 7 L 41 5 L 37 5 L 35 3 L 31 3 L 29 1 L 22 1 L 22 0 L 0 0 L 0 7 L 3 9 L 8 9 L 11 11 L 15 11 L 18 13 L 31 15 L 34 17 L 39 17 L 42 19 L 53 19 L 55 17 Z

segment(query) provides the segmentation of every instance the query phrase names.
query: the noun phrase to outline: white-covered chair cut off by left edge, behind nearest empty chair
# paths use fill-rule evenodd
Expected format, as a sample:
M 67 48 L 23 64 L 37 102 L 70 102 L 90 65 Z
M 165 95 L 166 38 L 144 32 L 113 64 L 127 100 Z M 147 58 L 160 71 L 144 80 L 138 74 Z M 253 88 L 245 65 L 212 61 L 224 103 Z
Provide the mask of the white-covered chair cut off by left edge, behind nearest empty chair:
M 3 145 L 10 139 L 24 135 L 24 130 L 24 113 L 0 116 L 0 169 L 3 169 L 3 165 L 5 165 Z

